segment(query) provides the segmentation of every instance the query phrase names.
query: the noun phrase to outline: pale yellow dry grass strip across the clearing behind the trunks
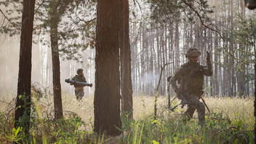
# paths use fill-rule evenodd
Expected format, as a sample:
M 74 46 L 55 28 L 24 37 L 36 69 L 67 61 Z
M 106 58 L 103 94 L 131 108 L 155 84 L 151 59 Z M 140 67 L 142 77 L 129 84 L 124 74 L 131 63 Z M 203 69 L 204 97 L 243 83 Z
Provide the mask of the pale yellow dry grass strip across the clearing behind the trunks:
M 12 111 L 15 108 L 15 102 L 12 101 L 12 98 L 7 97 L 0 97 L 0 111 L 7 112 Z M 173 97 L 171 97 L 171 100 Z M 153 114 L 154 110 L 154 100 L 155 97 L 133 97 L 133 117 L 134 119 L 141 119 L 143 116 L 149 116 Z M 239 119 L 244 121 L 245 124 L 253 125 L 255 121 L 255 117 L 253 116 L 254 112 L 254 98 L 239 98 L 239 97 L 204 97 L 205 102 L 207 103 L 208 107 L 211 111 L 215 113 L 220 113 L 223 111 L 223 116 L 233 119 Z M 94 97 L 84 97 L 80 102 L 76 100 L 74 95 L 67 95 L 63 93 L 63 111 L 64 114 L 76 113 L 83 121 L 90 126 L 90 122 L 94 121 L 94 105 L 93 105 Z M 10 103 L 12 102 L 12 103 Z M 174 100 L 175 103 L 180 103 L 177 99 Z M 10 104 L 10 105 L 9 105 Z M 157 99 L 157 113 L 162 113 L 163 111 L 167 110 L 167 97 L 158 97 Z M 53 96 L 51 95 L 50 98 L 41 98 L 40 100 L 40 107 L 43 115 L 46 116 L 47 114 L 53 114 Z M 183 113 L 186 109 L 177 107 L 179 111 L 174 113 L 174 116 L 179 116 L 180 113 Z M 206 110 L 207 111 L 207 110 Z M 207 111 L 208 113 L 208 111 Z M 197 113 L 193 116 L 195 119 L 197 117 Z M 87 127 L 86 130 L 92 130 L 91 127 Z

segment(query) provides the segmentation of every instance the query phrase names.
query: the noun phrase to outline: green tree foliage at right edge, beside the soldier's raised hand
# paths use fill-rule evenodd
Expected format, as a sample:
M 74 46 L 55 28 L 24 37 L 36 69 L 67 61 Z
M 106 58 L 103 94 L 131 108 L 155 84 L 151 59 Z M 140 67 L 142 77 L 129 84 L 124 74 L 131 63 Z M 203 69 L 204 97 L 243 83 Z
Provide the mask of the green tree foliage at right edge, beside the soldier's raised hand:
M 249 65 L 254 65 L 255 63 L 255 15 L 243 17 L 241 14 L 238 14 L 233 20 L 231 28 L 223 31 L 223 36 L 227 42 L 235 42 L 239 44 L 239 47 L 233 49 L 217 47 L 218 52 L 216 54 L 220 58 L 233 60 L 234 63 L 223 61 L 223 63 L 218 64 L 223 68 L 234 68 L 235 71 L 239 72 L 240 76 L 246 78 L 247 81 L 252 81 L 255 79 L 254 68 L 249 67 Z

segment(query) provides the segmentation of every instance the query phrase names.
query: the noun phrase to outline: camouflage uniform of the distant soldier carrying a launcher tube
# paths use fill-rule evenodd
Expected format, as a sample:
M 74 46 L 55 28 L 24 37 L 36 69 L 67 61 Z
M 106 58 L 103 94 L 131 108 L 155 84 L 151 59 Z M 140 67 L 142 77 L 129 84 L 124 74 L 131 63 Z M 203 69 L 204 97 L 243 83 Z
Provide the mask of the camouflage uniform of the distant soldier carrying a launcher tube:
M 71 79 L 73 81 L 81 81 L 81 82 L 87 82 L 84 76 L 73 76 Z M 75 87 L 75 95 L 77 100 L 81 100 L 82 97 L 84 97 L 84 87 L 80 86 L 79 84 L 74 84 Z

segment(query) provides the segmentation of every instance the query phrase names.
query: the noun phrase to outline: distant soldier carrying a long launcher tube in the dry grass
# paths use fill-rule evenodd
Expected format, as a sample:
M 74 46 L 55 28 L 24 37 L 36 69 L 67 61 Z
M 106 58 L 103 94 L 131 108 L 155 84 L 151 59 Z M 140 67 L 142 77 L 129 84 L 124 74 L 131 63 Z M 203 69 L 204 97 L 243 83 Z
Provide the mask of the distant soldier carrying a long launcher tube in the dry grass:
M 87 80 L 84 77 L 83 71 L 84 70 L 82 68 L 77 69 L 77 71 L 76 71 L 77 75 L 73 76 L 73 78 L 71 80 L 87 82 Z M 79 84 L 76 84 L 76 83 L 75 84 L 71 84 L 71 85 L 74 85 L 74 87 L 75 87 L 76 99 L 77 100 L 81 100 L 81 98 L 84 97 L 84 87 L 79 85 Z

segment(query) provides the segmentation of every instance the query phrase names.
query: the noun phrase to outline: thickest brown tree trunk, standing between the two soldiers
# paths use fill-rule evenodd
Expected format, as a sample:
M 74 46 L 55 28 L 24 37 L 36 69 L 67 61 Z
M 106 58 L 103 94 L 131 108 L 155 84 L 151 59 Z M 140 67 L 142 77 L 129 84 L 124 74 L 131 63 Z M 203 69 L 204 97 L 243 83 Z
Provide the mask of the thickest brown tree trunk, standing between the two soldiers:
M 97 1 L 94 131 L 105 135 L 121 134 L 118 2 Z

